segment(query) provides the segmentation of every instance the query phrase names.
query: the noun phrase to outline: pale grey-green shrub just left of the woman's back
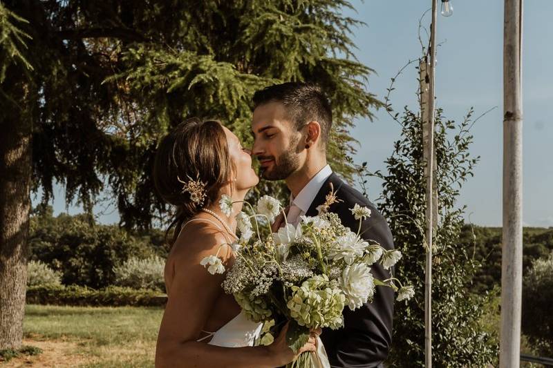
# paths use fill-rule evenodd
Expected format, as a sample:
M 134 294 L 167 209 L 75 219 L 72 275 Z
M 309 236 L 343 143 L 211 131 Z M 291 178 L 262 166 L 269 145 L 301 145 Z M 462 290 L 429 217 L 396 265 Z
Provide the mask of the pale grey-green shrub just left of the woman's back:
M 120 266 L 115 267 L 115 285 L 133 289 L 153 289 L 165 291 L 163 270 L 165 260 L 154 255 L 140 260 L 131 257 Z

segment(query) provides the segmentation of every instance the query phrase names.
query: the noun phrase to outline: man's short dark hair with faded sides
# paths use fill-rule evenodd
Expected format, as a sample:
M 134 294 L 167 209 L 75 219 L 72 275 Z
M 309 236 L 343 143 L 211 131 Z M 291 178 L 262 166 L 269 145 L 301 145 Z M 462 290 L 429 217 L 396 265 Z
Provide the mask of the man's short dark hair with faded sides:
M 290 81 L 274 84 L 254 93 L 254 108 L 277 101 L 287 110 L 288 118 L 299 130 L 312 121 L 319 122 L 324 145 L 332 128 L 332 108 L 320 86 L 313 83 Z

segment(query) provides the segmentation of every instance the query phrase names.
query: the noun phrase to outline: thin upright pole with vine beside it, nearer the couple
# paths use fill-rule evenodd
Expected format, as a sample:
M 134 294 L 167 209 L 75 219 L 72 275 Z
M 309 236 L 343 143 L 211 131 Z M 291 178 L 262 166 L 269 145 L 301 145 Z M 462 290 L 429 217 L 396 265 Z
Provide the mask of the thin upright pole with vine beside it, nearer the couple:
M 434 86 L 435 86 L 435 59 L 436 59 L 436 21 L 438 20 L 438 0 L 432 0 L 432 24 L 430 29 L 429 50 L 429 97 L 428 97 L 428 144 L 427 144 L 427 260 L 424 275 L 424 366 L 432 367 L 432 235 L 433 235 L 433 151 L 434 151 Z

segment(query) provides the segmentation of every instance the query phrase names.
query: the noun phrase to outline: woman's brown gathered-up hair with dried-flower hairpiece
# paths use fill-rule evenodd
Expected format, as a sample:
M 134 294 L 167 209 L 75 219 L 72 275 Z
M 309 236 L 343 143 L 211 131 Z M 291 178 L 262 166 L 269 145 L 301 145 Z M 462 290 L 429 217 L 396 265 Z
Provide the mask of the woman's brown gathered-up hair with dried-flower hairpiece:
M 193 117 L 163 137 L 156 153 L 153 180 L 163 200 L 176 206 L 176 218 L 165 233 L 167 237 L 175 226 L 171 245 L 185 221 L 217 202 L 220 189 L 231 182 L 232 170 L 227 136 L 220 122 Z M 190 181 L 204 184 L 205 197 L 198 199 L 198 193 L 187 190 Z

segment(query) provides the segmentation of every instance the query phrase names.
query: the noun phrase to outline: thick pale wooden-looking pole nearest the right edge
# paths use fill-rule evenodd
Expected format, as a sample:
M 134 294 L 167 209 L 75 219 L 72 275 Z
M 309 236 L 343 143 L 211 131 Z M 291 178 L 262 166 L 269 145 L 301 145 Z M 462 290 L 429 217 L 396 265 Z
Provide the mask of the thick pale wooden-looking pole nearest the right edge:
M 503 43 L 503 250 L 499 366 L 520 366 L 523 261 L 523 0 L 505 0 Z

